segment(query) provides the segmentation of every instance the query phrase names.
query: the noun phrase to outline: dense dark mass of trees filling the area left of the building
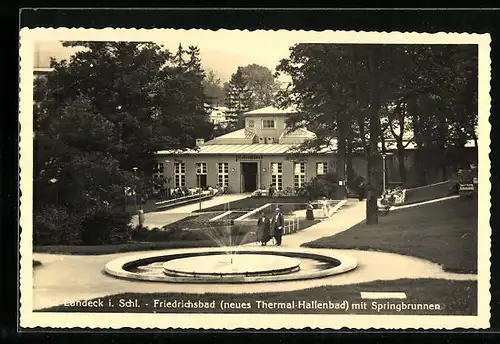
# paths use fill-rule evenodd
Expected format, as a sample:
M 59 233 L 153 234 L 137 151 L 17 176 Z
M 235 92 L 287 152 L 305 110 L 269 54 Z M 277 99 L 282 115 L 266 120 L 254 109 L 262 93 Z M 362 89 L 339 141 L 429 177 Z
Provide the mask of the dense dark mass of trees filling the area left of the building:
M 179 45 L 172 55 L 152 43 L 66 45 L 84 50 L 69 62 L 52 61 L 54 71 L 34 90 L 38 238 L 60 227 L 61 215 L 79 231 L 61 240 L 124 241 L 130 220 L 124 189 L 150 184 L 156 150 L 193 147 L 211 133 L 199 50 Z M 134 167 L 144 176 L 140 183 Z M 46 211 L 59 215 L 44 220 Z

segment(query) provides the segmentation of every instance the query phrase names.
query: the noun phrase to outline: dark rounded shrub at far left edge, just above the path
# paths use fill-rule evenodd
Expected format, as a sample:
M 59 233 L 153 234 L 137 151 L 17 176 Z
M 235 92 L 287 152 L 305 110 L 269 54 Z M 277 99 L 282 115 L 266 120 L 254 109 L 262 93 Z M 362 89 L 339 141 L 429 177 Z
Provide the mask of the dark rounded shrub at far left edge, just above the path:
M 78 245 L 82 241 L 81 219 L 66 208 L 46 206 L 35 213 L 35 245 Z

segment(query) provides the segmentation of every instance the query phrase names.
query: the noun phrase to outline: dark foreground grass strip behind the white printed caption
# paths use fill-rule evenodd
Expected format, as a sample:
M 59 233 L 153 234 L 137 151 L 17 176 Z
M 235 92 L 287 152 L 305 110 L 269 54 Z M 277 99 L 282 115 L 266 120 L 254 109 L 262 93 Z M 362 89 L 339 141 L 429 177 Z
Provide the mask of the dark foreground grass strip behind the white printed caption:
M 405 300 L 378 300 L 378 304 L 437 304 L 439 310 L 401 310 L 372 309 L 371 300 L 362 300 L 362 291 L 405 292 Z M 139 307 L 119 307 L 119 300 L 137 300 Z M 203 308 L 166 308 L 154 307 L 154 300 L 213 303 L 215 309 Z M 127 313 L 289 313 L 289 314 L 413 314 L 413 315 L 476 315 L 477 314 L 477 284 L 475 281 L 448 281 L 441 279 L 400 279 L 395 281 L 373 281 L 348 286 L 323 286 L 290 292 L 255 293 L 255 294 L 184 294 L 184 293 L 124 293 L 101 298 L 104 307 L 56 306 L 40 310 L 40 312 L 127 312 Z M 341 303 L 347 300 L 349 309 L 304 309 L 298 308 L 299 301 L 318 301 Z M 110 302 L 108 302 L 110 301 Z M 230 301 L 235 305 L 248 304 L 250 309 L 221 309 L 221 301 Z M 294 309 L 258 308 L 257 301 L 292 302 Z M 352 305 L 367 302 L 367 309 L 353 309 Z M 114 305 L 110 307 L 109 305 Z M 436 307 L 437 308 L 437 307 Z

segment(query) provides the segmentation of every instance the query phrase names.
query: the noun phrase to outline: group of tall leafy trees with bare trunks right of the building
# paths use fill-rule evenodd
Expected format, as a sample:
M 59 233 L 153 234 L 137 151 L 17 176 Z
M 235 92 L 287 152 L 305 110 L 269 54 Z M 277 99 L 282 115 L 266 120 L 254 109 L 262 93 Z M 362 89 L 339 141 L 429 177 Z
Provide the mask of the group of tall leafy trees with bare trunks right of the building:
M 297 44 L 290 50 L 277 67 L 292 78 L 279 93 L 279 103 L 297 106 L 292 127 L 306 125 L 318 134 L 303 147 L 337 143 L 339 176 L 354 150 L 364 152 L 367 223 L 378 221 L 385 131 L 394 137 L 400 160 L 408 144 L 403 134 L 413 129 L 410 140 L 419 148 L 418 156 L 438 157 L 441 164 L 448 164 L 443 154 L 449 156 L 449 148 L 474 138 L 477 52 L 471 47 Z M 404 163 L 400 165 L 404 180 Z

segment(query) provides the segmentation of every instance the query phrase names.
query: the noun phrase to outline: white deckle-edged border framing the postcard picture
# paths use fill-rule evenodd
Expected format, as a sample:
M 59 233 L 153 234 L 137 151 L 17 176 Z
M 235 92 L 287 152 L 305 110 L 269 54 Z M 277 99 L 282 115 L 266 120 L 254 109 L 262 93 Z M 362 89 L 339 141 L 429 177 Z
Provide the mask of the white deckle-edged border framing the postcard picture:
M 477 316 L 412 316 L 412 315 L 260 315 L 260 314 L 128 314 L 113 316 L 103 313 L 34 313 L 32 266 L 32 181 L 33 181 L 33 48 L 41 40 L 94 41 L 164 41 L 172 29 L 68 29 L 23 28 L 20 32 L 20 166 L 21 166 L 21 270 L 20 326 L 23 328 L 100 328 L 123 327 L 142 329 L 203 328 L 203 329 L 455 329 L 488 328 L 490 319 L 490 35 L 467 33 L 378 33 L 354 31 L 293 30 L 295 42 L 329 43 L 392 43 L 392 44 L 478 44 L 479 46 L 479 214 L 478 214 L 478 315 Z M 175 30 L 198 40 L 213 35 L 211 30 Z M 288 30 L 219 30 L 226 38 L 238 37 L 239 42 L 251 45 L 252 37 L 281 40 L 290 38 Z M 155 39 L 158 38 L 158 39 Z M 259 41 L 255 41 L 258 44 Z M 239 43 L 237 43 L 239 44 Z

